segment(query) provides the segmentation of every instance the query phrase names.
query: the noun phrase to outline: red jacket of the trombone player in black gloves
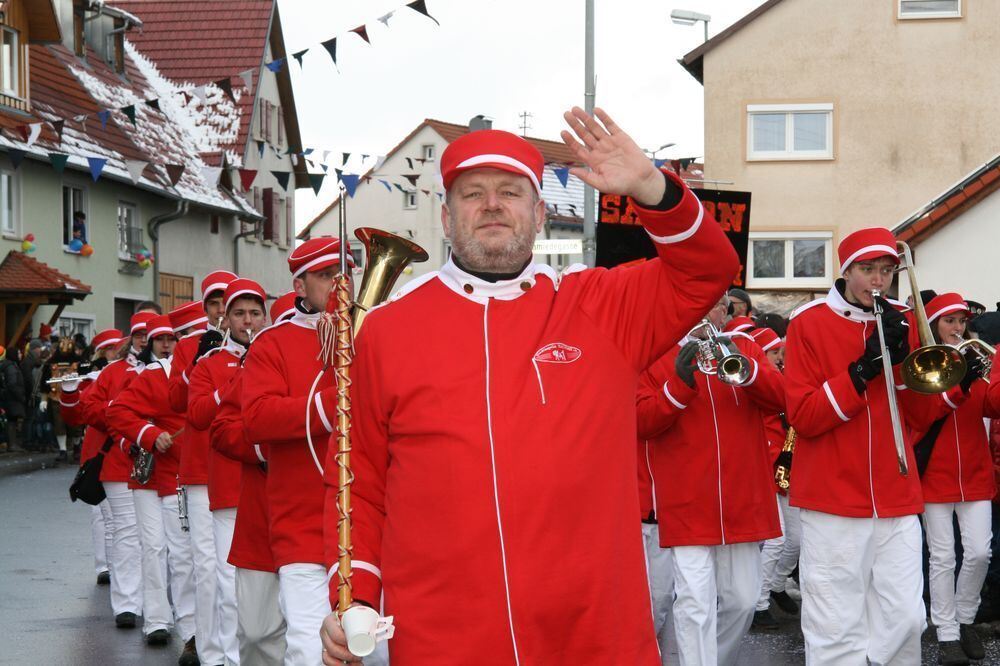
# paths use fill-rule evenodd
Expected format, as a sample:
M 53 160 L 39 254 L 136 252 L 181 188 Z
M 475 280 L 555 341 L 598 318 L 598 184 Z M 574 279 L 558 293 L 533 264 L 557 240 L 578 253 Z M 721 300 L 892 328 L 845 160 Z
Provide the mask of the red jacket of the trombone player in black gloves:
M 839 282 L 839 281 L 838 281 Z M 909 424 L 928 402 L 906 389 L 895 369 L 910 472 L 899 473 L 885 378 L 860 395 L 848 367 L 875 330 L 870 312 L 844 299 L 837 286 L 792 314 L 785 342 L 788 421 L 797 433 L 789 502 L 852 518 L 923 511 Z

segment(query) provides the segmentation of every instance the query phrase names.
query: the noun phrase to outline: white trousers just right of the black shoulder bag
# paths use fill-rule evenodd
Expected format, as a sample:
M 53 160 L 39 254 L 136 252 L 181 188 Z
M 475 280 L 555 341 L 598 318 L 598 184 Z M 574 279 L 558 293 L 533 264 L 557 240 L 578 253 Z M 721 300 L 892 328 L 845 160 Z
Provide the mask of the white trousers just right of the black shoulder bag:
M 111 513 L 111 611 L 142 615 L 142 546 L 135 521 L 135 504 L 127 483 L 104 484 Z

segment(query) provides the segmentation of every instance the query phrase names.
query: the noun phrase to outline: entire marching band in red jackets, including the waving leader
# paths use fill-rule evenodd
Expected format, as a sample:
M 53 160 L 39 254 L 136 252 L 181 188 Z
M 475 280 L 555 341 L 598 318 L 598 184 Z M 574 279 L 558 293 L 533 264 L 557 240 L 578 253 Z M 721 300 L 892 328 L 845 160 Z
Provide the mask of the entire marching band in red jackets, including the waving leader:
M 941 663 L 982 659 L 991 357 L 964 347 L 943 393 L 907 386 L 923 343 L 884 296 L 900 265 L 884 228 L 843 238 L 826 296 L 755 319 L 684 182 L 604 112 L 565 120 L 573 174 L 628 195 L 658 256 L 534 265 L 537 149 L 481 130 L 441 156 L 453 254 L 355 338 L 352 601 L 386 616 L 364 663 L 735 664 L 774 604 L 801 616 L 807 663 L 917 664 L 925 575 Z M 58 401 L 53 433 L 85 428 L 113 622 L 154 647 L 178 636 L 181 664 L 362 661 L 334 612 L 343 387 L 322 351 L 353 268 L 340 243 L 292 251 L 273 301 L 217 270 L 200 300 L 147 304 L 89 344 L 43 330 L 0 365 L 11 446 L 72 450 L 35 434 L 39 401 Z M 927 323 L 957 346 L 974 305 L 934 287 Z M 76 370 L 49 384 L 57 358 Z

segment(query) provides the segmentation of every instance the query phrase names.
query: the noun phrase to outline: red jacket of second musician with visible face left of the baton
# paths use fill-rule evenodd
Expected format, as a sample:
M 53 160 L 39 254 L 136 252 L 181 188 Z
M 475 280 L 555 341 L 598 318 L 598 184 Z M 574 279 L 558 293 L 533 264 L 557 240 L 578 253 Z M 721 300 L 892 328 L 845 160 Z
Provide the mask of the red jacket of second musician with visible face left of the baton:
M 222 402 L 220 391 L 229 384 L 240 367 L 243 347 L 230 341 L 198 361 L 188 385 L 188 424 L 205 435 L 211 444 L 209 428 Z M 188 440 L 191 446 L 192 440 Z M 181 459 L 183 462 L 183 458 Z M 240 464 L 218 451 L 208 451 L 209 509 L 230 509 L 240 500 Z

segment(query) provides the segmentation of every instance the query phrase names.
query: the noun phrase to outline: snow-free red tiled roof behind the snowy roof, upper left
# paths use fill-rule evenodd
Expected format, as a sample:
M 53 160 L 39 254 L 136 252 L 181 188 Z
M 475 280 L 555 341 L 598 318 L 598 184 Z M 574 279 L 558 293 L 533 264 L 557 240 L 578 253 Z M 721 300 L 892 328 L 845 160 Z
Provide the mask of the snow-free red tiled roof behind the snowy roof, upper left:
M 198 85 L 234 77 L 252 69 L 253 90 L 263 63 L 274 0 L 115 0 L 139 17 L 142 31 L 131 31 L 130 42 L 174 81 Z M 287 66 L 287 65 L 286 65 Z M 246 153 L 255 95 L 240 98 L 240 132 L 234 149 Z

